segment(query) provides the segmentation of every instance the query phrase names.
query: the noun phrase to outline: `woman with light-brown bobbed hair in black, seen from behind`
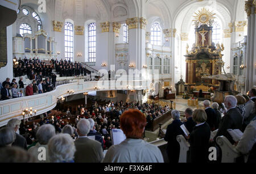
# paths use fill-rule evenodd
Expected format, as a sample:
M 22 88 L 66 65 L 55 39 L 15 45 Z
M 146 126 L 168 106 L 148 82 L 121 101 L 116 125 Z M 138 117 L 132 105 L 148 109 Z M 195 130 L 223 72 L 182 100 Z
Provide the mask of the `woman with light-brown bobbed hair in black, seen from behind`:
M 196 126 L 187 137 L 190 144 L 188 152 L 190 161 L 191 163 L 207 163 L 210 127 L 206 122 L 206 112 L 203 109 L 196 109 L 193 113 L 193 121 L 196 122 Z

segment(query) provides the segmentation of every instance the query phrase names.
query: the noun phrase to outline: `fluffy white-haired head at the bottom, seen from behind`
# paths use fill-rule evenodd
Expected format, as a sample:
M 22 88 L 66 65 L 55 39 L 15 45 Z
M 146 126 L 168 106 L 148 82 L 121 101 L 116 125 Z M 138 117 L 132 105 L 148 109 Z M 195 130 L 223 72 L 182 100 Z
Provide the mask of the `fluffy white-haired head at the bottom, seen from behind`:
M 76 147 L 68 134 L 53 136 L 48 143 L 49 160 L 51 163 L 74 163 Z

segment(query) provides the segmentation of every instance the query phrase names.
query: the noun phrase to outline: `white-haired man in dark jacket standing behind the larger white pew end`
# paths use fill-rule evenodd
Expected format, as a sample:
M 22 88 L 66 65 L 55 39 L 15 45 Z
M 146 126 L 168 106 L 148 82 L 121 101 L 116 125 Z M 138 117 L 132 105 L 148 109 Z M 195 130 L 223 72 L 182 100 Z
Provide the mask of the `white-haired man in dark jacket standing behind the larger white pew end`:
M 234 144 L 234 140 L 232 136 L 227 131 L 228 129 L 242 129 L 242 115 L 240 111 L 236 108 L 237 99 L 234 96 L 226 96 L 224 101 L 225 107 L 227 109 L 224 117 L 222 118 L 222 122 L 218 127 L 218 132 L 214 137 L 214 140 L 218 136 L 225 136 L 230 143 Z

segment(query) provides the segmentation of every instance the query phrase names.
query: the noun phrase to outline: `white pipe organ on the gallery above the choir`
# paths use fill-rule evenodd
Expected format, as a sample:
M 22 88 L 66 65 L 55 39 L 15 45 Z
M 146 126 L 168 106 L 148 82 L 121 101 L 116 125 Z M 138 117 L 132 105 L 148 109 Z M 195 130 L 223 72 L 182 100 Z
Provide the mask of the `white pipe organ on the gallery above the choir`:
M 13 56 L 22 59 L 39 57 L 40 59 L 51 60 L 56 59 L 57 54 L 55 52 L 56 42 L 53 38 L 49 37 L 46 31 L 39 30 L 35 32 L 34 36 L 31 34 L 24 34 L 23 38 L 13 38 Z

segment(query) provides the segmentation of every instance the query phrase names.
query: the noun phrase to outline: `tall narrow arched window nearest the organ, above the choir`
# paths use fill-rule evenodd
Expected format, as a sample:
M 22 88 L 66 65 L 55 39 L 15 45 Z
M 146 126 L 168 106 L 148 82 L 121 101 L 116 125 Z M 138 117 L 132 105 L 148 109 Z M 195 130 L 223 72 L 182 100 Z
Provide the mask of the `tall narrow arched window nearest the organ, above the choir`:
M 65 60 L 73 61 L 73 24 L 65 23 Z

